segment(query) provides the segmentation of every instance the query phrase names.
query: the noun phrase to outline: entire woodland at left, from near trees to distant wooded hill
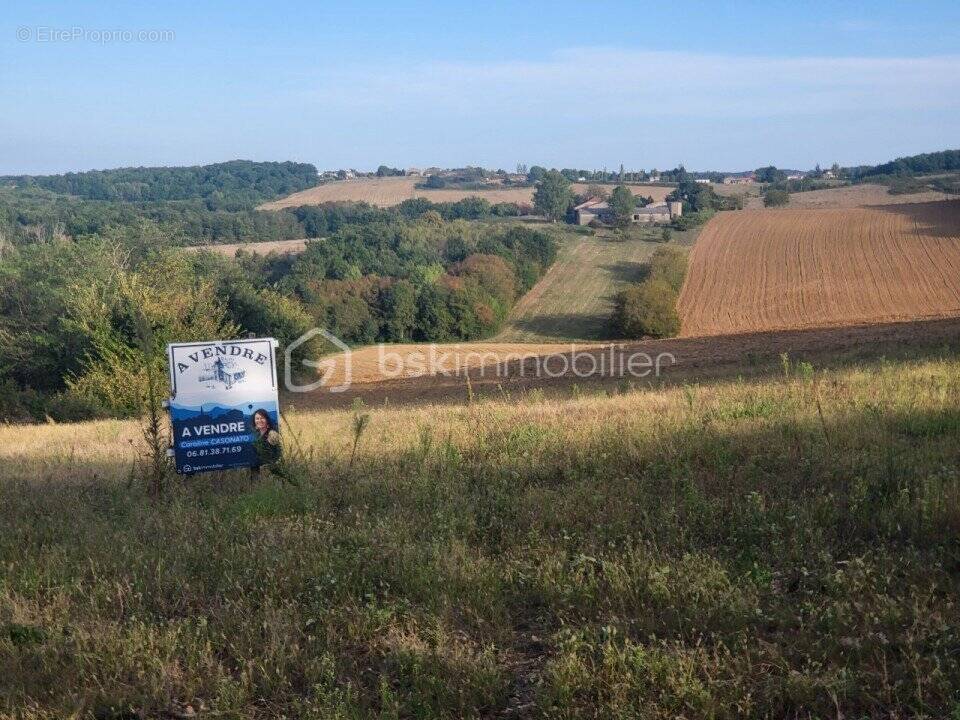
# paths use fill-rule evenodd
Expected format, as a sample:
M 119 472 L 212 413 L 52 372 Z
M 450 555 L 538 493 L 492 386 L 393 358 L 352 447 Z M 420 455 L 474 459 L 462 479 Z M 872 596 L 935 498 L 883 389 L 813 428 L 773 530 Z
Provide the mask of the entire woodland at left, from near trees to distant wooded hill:
M 274 166 L 299 167 L 262 165 L 263 182 L 251 180 L 257 194 L 266 192 Z M 121 170 L 98 173 L 99 180 L 0 188 L 4 417 L 135 413 L 144 374 L 162 375 L 171 340 L 255 333 L 288 343 L 315 326 L 351 343 L 484 337 L 556 254 L 550 234 L 476 222 L 516 215 L 513 205 L 469 198 L 258 212 L 244 190 L 234 193 L 235 172 L 183 171 L 178 178 L 173 169 Z M 130 177 L 150 179 L 143 197 L 208 197 L 129 202 L 51 189 L 96 196 L 120 192 L 120 178 Z M 223 202 L 239 209 L 216 206 Z M 299 237 L 322 239 L 299 256 L 229 259 L 178 247 Z

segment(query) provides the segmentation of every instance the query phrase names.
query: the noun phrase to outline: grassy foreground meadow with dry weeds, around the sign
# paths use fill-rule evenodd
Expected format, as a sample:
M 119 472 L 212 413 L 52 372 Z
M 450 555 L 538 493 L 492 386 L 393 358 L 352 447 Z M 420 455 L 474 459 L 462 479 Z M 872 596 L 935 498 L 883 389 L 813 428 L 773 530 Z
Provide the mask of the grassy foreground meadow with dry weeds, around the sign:
M 956 356 L 289 421 L 0 428 L 0 716 L 960 716 Z

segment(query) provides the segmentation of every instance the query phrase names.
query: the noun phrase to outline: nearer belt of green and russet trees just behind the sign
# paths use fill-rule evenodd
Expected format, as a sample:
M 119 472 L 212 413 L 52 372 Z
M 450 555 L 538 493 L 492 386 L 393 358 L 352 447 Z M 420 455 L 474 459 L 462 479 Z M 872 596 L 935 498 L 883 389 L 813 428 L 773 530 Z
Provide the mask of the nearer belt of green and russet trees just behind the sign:
M 254 333 L 286 344 L 317 326 L 354 343 L 484 337 L 555 255 L 543 231 L 434 210 L 344 224 L 299 256 L 184 253 L 147 220 L 6 246 L 2 416 L 133 414 L 173 340 Z

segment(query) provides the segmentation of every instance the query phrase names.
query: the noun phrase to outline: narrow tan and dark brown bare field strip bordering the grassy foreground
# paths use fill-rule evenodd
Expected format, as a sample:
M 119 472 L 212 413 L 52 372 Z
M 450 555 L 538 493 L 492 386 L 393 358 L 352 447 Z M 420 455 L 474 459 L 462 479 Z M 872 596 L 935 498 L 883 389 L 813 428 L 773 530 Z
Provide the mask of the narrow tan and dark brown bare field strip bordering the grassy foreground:
M 534 389 L 553 396 L 616 393 L 625 385 L 781 374 L 782 353 L 817 367 L 837 367 L 878 357 L 938 355 L 947 348 L 960 351 L 960 318 L 618 343 L 370 346 L 354 350 L 349 358 L 327 356 L 325 385 L 289 394 L 284 402 L 300 409 L 349 408 L 357 399 L 371 407 L 458 404 L 470 397 L 517 398 Z M 621 363 L 631 356 L 639 363 L 637 372 Z M 349 387 L 329 392 L 347 381 L 348 364 Z

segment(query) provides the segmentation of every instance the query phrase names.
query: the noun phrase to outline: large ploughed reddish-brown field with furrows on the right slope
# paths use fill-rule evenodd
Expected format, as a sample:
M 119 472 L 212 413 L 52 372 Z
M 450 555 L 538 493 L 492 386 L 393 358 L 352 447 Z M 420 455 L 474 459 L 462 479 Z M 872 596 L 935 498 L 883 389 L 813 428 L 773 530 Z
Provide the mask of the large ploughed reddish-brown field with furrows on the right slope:
M 719 213 L 680 313 L 687 337 L 960 316 L 960 201 Z

